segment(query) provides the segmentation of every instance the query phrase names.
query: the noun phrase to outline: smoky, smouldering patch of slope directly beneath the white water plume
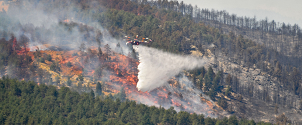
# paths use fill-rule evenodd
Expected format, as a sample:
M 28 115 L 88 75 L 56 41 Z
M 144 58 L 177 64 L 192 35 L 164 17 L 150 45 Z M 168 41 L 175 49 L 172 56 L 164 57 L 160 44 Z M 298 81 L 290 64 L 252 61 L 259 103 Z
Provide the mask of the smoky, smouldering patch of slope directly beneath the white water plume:
M 225 111 L 215 108 L 214 102 L 200 89 L 193 86 L 192 81 L 180 72 L 178 77 L 173 77 L 173 82 L 163 85 L 148 93 L 131 92 L 128 94 L 138 103 L 164 107 L 173 106 L 176 111 L 188 111 L 190 113 L 204 114 L 205 116 L 217 117 L 227 114 Z M 176 86 L 175 86 L 176 85 Z M 202 96 L 201 94 L 202 93 Z

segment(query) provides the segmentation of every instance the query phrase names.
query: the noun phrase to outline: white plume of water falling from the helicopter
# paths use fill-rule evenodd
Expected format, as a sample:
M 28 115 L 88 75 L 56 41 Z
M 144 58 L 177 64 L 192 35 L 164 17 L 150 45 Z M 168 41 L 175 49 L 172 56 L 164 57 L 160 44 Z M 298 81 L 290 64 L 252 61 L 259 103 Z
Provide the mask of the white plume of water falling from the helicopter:
M 141 91 L 150 91 L 160 87 L 182 70 L 198 68 L 206 63 L 206 60 L 202 58 L 172 54 L 145 46 L 139 46 L 135 50 L 139 54 L 136 87 Z

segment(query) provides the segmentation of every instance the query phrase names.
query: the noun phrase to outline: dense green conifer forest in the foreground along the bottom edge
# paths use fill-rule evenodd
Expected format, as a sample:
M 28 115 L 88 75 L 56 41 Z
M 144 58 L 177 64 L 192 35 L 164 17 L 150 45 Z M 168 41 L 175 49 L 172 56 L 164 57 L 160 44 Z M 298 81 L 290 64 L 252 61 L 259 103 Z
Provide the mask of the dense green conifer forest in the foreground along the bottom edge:
M 254 120 L 210 118 L 147 106 L 119 97 L 79 94 L 68 87 L 0 79 L 0 124 L 271 124 Z

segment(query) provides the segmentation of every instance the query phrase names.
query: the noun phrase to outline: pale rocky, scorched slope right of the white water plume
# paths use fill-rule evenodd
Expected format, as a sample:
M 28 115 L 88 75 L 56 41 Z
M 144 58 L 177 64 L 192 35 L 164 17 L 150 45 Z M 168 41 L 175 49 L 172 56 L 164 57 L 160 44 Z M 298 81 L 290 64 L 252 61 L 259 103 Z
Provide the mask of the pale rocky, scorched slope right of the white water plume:
M 194 46 L 192 48 L 194 48 L 192 54 L 202 55 Z M 228 74 L 233 76 L 233 80 L 234 77 L 238 78 L 239 87 L 233 87 L 230 96 L 224 96 L 228 101 L 226 111 L 241 118 L 246 117 L 272 123 L 276 121 L 278 115 L 284 113 L 292 123 L 301 123 L 302 114 L 301 110 L 298 109 L 298 102 L 301 99 L 297 95 L 284 90 L 282 83 L 276 77 L 272 77 L 267 72 L 256 68 L 255 65 L 253 68 L 248 68 L 238 64 L 238 62 L 230 61 L 228 57 L 221 53 L 214 55 L 210 49 L 205 51 L 204 56 L 209 59 L 205 67 L 211 66 L 215 70 L 214 72 L 222 70 L 224 79 Z M 266 64 L 269 65 L 268 62 Z M 277 99 L 290 103 L 292 106 L 275 104 Z

